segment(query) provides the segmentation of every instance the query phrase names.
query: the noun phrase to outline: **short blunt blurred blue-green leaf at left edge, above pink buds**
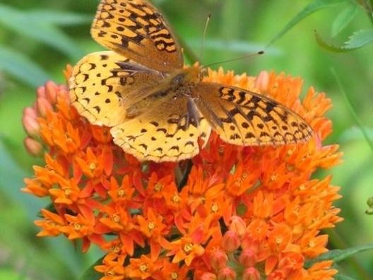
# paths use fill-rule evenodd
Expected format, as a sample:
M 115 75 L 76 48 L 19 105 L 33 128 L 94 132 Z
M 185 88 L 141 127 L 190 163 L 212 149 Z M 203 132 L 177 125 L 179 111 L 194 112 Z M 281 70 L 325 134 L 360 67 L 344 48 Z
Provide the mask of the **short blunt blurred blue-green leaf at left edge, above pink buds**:
M 0 45 L 0 71 L 19 78 L 24 83 L 35 87 L 49 79 L 49 75 L 28 57 L 13 49 Z

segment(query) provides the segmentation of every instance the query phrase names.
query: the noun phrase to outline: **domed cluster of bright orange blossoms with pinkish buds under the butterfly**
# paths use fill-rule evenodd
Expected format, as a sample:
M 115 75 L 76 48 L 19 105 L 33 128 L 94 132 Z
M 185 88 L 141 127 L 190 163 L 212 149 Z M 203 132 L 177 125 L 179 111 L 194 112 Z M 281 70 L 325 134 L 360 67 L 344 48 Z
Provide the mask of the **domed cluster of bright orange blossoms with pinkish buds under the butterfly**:
M 66 86 L 49 82 L 23 118 L 25 146 L 46 163 L 23 191 L 52 201 L 35 221 L 38 235 L 105 250 L 95 267 L 103 280 L 332 279 L 331 261 L 304 267 L 327 251 L 321 229 L 341 221 L 332 205 L 339 187 L 312 178 L 341 158 L 337 145 L 321 143 L 331 133 L 331 100 L 310 88 L 301 102 L 300 78 L 265 71 L 254 78 L 220 69 L 206 80 L 270 95 L 302 115 L 314 139 L 242 147 L 213 133 L 189 163 L 140 163 L 109 129 L 78 115 Z

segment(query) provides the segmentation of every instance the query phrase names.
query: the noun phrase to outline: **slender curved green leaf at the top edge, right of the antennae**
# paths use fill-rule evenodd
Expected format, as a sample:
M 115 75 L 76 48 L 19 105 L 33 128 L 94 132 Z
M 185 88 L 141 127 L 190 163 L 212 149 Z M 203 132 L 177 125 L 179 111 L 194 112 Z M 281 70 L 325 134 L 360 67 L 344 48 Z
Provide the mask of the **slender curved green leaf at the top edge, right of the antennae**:
M 328 8 L 331 6 L 335 6 L 338 4 L 345 3 L 348 0 L 314 0 L 312 3 L 308 4 L 300 13 L 297 13 L 297 15 L 292 18 L 285 27 L 280 30 L 278 34 L 276 34 L 275 37 L 268 43 L 267 46 L 270 46 L 278 40 L 280 37 L 282 37 L 285 33 L 287 33 L 292 27 L 294 27 L 297 23 L 302 21 L 304 18 L 307 18 L 307 16 L 311 15 L 312 13 L 321 10 L 322 8 Z

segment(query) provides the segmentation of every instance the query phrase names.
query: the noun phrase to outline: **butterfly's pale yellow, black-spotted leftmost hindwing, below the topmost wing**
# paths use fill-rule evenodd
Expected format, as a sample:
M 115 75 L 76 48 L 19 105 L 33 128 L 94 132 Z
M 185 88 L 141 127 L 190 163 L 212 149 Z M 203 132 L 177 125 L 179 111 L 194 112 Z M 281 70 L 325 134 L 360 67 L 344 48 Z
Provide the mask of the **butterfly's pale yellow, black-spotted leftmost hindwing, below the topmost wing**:
M 73 68 L 69 94 L 79 114 L 92 124 L 113 127 L 126 118 L 126 108 L 143 98 L 162 75 L 115 52 L 94 52 Z

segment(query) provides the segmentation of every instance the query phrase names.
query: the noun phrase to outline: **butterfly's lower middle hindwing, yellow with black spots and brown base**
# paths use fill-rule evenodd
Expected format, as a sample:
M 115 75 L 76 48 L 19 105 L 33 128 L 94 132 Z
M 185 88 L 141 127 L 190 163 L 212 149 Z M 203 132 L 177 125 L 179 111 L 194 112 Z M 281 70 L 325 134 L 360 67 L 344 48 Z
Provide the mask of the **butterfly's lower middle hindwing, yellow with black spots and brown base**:
M 181 161 L 199 153 L 198 139 L 206 144 L 211 127 L 191 98 L 170 92 L 110 132 L 115 144 L 140 161 Z

